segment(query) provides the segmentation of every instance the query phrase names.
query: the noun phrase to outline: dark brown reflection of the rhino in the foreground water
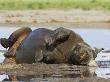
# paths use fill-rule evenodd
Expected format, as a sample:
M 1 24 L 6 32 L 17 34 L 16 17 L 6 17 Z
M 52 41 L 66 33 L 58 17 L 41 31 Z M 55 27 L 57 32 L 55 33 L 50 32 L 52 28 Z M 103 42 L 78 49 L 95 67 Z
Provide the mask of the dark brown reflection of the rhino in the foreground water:
M 54 65 L 55 68 L 57 65 Z M 25 70 L 22 73 L 16 73 L 16 75 L 13 73 L 6 73 L 8 75 L 8 78 L 5 77 L 4 80 L 12 80 L 12 81 L 47 81 L 51 82 L 53 80 L 59 81 L 62 78 L 65 79 L 75 79 L 75 78 L 89 78 L 96 76 L 95 74 L 95 67 L 75 67 L 75 66 L 63 66 L 62 68 L 58 67 L 58 71 L 56 71 L 53 74 L 27 74 L 25 73 Z M 34 71 L 33 71 L 34 72 Z M 4 76 L 4 75 L 3 75 Z M 2 79 L 1 79 L 2 80 Z M 61 81 L 62 82 L 62 81 Z

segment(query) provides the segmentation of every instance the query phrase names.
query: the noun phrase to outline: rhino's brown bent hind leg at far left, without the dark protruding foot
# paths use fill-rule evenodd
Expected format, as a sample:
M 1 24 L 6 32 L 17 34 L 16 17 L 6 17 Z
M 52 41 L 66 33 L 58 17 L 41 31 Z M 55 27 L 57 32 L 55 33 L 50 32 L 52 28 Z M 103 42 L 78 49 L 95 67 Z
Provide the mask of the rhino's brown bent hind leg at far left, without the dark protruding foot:
M 17 48 L 22 43 L 22 41 L 28 36 L 30 32 L 31 32 L 31 29 L 27 27 L 20 28 L 15 32 L 13 32 L 8 38 L 10 45 L 9 45 L 8 51 L 4 54 L 4 56 L 5 57 L 15 56 Z

